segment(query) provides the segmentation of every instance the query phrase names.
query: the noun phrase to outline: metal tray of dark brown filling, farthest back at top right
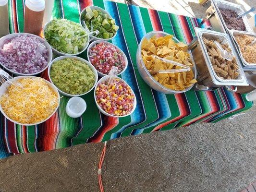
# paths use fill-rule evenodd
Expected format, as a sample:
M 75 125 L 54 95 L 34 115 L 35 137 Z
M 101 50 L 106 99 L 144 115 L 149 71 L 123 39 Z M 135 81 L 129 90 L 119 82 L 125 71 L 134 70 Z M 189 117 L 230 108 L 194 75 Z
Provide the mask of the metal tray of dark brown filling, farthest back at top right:
M 225 0 L 214 0 L 214 3 L 226 31 L 234 29 L 253 32 L 246 15 L 237 18 L 237 16 L 244 13 L 241 5 Z

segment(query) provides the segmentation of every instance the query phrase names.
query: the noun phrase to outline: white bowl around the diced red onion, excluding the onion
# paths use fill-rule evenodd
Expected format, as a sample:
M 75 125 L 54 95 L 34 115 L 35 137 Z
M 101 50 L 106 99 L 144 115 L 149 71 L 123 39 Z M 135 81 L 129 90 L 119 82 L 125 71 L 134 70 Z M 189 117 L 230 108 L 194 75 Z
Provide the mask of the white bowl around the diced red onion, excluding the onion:
M 50 61 L 52 60 L 52 50 L 51 50 L 51 46 L 49 45 L 49 43 L 48 43 L 45 39 L 41 38 L 40 36 L 36 36 L 36 35 L 30 34 L 30 33 L 12 33 L 12 34 L 9 34 L 9 35 L 7 35 L 7 36 L 3 36 L 3 37 L 0 38 L 0 47 L 3 46 L 4 42 L 5 42 L 7 39 L 12 39 L 13 37 L 21 36 L 21 35 L 35 36 L 35 37 L 37 37 L 37 39 L 39 39 L 39 40 L 47 47 L 47 49 L 48 49 L 48 60 L 47 60 L 47 63 L 48 63 L 48 64 L 47 64 L 47 65 L 45 66 L 45 68 L 42 69 L 41 71 L 35 72 L 35 73 L 29 73 L 29 74 L 27 74 L 27 73 L 20 73 L 20 72 L 14 72 L 14 71 L 12 71 L 11 69 L 8 69 L 7 67 L 5 67 L 1 62 L 0 62 L 0 65 L 1 65 L 4 69 L 6 69 L 6 70 L 9 71 L 9 72 L 12 72 L 12 73 L 15 74 L 15 75 L 37 75 L 37 74 L 39 74 L 39 73 L 45 71 L 45 70 L 48 68 Z

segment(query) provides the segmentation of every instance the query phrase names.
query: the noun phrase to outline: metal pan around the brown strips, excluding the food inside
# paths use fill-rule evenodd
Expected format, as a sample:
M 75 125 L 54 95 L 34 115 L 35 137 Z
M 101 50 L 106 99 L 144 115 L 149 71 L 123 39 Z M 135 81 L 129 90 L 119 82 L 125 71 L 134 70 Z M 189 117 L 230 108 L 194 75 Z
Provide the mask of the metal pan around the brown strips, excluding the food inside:
M 237 58 L 236 52 L 232 46 L 230 37 L 227 34 L 219 33 L 216 31 L 210 31 L 207 29 L 195 28 L 195 34 L 197 39 L 194 39 L 189 45 L 189 49 L 192 51 L 192 55 L 195 60 L 196 69 L 198 72 L 198 82 L 208 87 L 221 87 L 221 86 L 247 86 L 247 80 L 242 70 L 242 66 L 239 60 L 237 64 L 239 69 L 239 76 L 237 79 L 221 79 L 217 76 L 216 72 L 213 69 L 210 58 L 207 53 L 206 45 L 202 37 L 209 39 L 219 40 L 221 43 L 228 44 L 232 50 L 232 56 Z

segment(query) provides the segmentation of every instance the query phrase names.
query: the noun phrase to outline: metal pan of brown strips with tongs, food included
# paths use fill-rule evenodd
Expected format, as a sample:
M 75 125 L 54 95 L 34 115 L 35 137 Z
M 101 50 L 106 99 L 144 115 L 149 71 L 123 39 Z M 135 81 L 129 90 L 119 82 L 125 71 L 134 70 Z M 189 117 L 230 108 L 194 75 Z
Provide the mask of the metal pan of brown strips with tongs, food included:
M 200 28 L 195 28 L 195 32 L 197 39 L 189 48 L 196 63 L 198 82 L 209 87 L 247 86 L 230 37 Z

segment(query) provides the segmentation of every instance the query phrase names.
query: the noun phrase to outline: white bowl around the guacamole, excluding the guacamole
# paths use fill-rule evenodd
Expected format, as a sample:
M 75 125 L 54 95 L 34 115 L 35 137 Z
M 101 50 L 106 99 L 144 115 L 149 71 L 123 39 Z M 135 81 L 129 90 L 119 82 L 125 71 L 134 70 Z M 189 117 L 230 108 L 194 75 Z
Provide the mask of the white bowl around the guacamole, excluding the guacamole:
M 92 70 L 92 72 L 94 73 L 94 76 L 95 76 L 95 82 L 94 82 L 92 88 L 90 88 L 89 91 L 87 91 L 87 92 L 85 92 L 85 93 L 83 93 L 83 94 L 80 94 L 80 95 L 72 95 L 72 94 L 68 94 L 68 93 L 65 93 L 65 92 L 61 91 L 61 90 L 52 82 L 51 77 L 50 77 L 50 69 L 51 69 L 52 64 L 53 64 L 55 61 L 63 60 L 63 59 L 65 59 L 65 58 L 75 58 L 75 59 L 77 59 L 77 60 L 81 60 L 82 62 L 86 63 L 86 65 L 88 65 L 88 66 L 91 68 L 91 70 Z M 54 84 L 54 86 L 58 89 L 58 91 L 59 91 L 61 94 L 65 95 L 65 96 L 83 96 L 83 95 L 89 93 L 89 92 L 95 87 L 95 85 L 97 84 L 97 81 L 98 81 L 98 73 L 97 73 L 97 70 L 94 68 L 94 66 L 93 66 L 90 62 L 88 62 L 87 60 L 85 60 L 85 59 L 83 59 L 83 58 L 76 57 L 76 56 L 71 56 L 71 55 L 70 55 L 70 56 L 66 55 L 66 56 L 57 57 L 56 59 L 52 60 L 52 61 L 50 62 L 50 64 L 49 64 L 48 75 L 49 75 L 50 82 L 51 82 L 52 84 Z

